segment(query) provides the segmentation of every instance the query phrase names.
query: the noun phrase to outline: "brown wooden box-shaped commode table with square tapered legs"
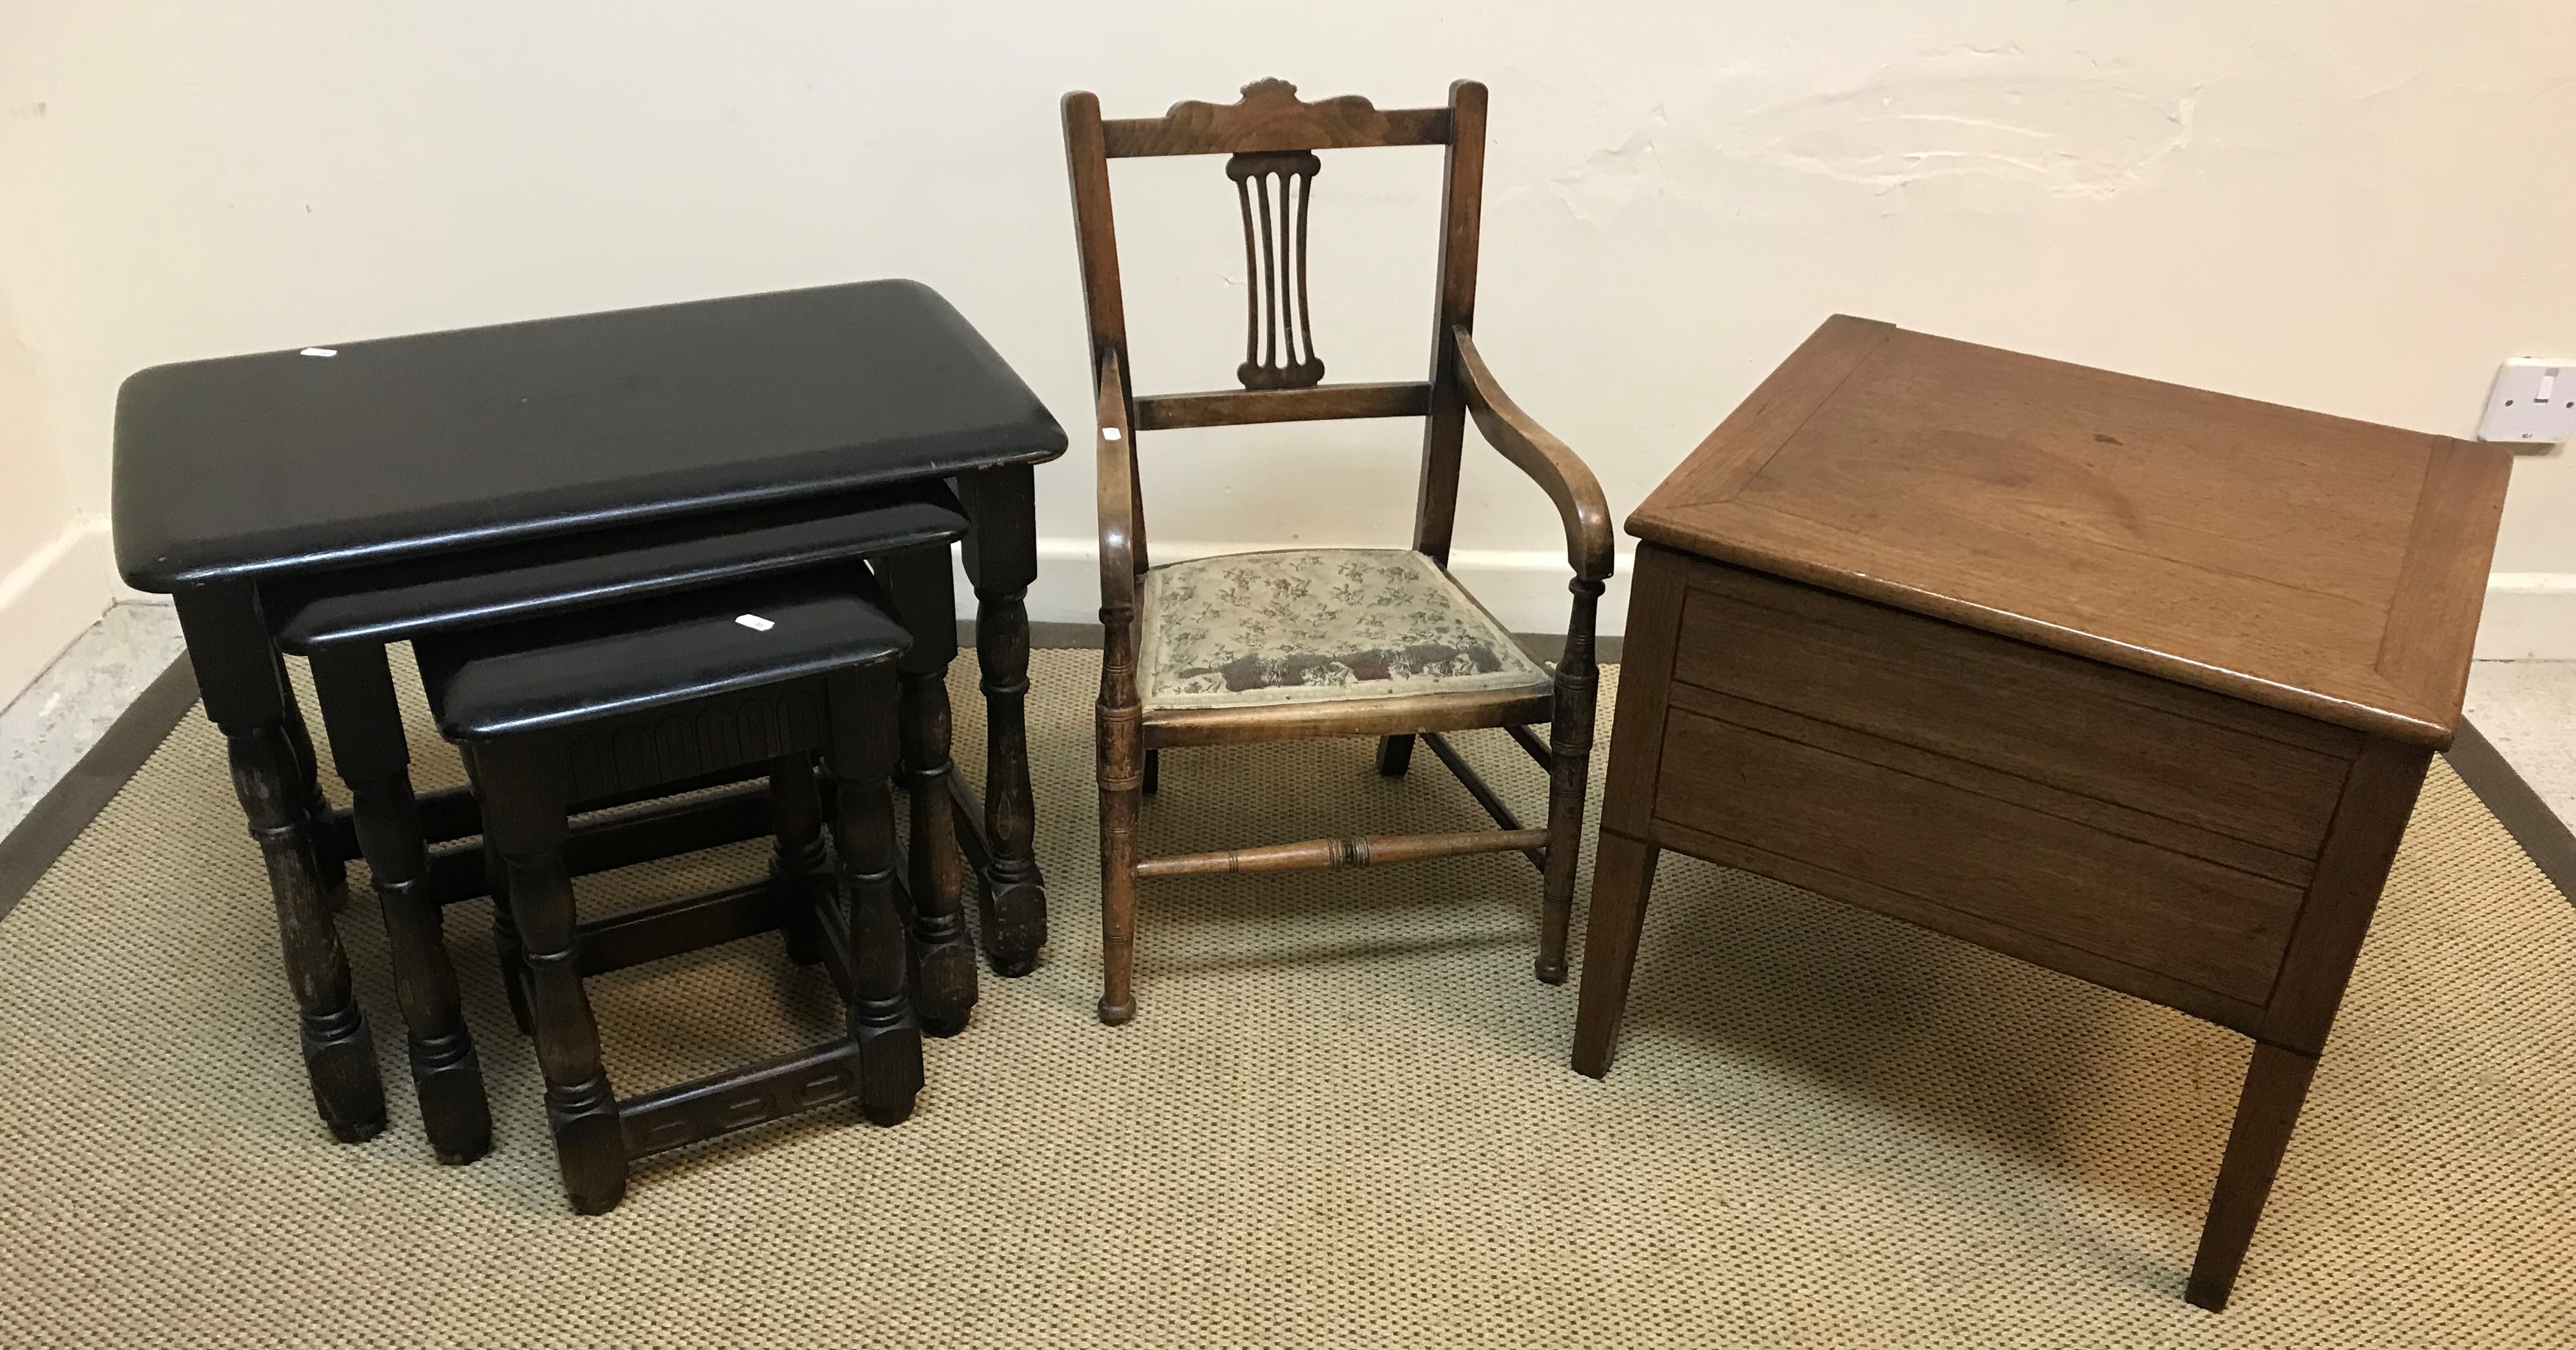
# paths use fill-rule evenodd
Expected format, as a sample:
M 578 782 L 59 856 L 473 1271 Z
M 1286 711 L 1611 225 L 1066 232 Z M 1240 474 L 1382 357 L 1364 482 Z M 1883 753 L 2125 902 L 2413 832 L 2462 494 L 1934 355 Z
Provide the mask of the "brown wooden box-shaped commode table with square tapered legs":
M 2432 752 L 2506 453 L 1834 317 L 1628 518 L 1574 1067 L 1664 848 L 2254 1038 L 2223 1309 Z

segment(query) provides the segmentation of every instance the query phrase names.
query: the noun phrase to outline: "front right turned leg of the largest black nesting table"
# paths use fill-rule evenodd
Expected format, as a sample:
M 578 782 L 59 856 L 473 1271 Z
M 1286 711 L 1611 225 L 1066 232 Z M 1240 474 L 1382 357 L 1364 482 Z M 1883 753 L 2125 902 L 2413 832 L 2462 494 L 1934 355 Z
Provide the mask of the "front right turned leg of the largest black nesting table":
M 1046 946 L 1046 879 L 1036 855 L 1028 783 L 1028 582 L 1038 580 L 1038 518 L 1025 464 L 958 482 L 971 518 L 966 577 L 976 595 L 976 662 L 984 672 L 984 868 L 979 907 L 994 974 L 1038 969 Z

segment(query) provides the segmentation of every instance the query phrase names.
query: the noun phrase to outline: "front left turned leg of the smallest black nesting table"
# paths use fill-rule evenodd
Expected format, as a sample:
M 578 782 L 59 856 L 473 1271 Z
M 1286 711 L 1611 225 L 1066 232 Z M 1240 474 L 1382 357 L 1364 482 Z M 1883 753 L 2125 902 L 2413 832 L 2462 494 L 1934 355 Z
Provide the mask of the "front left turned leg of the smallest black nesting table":
M 479 747 L 477 760 L 484 832 L 510 876 L 554 1159 L 574 1213 L 608 1213 L 626 1198 L 626 1131 L 582 989 L 580 920 L 564 871 L 564 765 L 544 747 L 513 752 L 507 745 Z

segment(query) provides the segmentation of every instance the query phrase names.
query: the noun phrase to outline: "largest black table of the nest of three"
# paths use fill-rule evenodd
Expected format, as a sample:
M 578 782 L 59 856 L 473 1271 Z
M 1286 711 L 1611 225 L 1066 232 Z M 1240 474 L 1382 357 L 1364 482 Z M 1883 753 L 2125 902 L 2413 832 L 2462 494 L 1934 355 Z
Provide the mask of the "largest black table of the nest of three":
M 1059 453 L 1064 430 L 1038 397 L 914 281 L 131 376 L 116 402 L 116 562 L 129 585 L 178 603 L 206 716 L 224 729 L 234 791 L 268 860 L 304 1059 L 332 1134 L 353 1141 L 384 1123 L 366 1018 L 330 920 L 353 848 L 322 837 L 345 822 L 325 809 L 276 647 L 286 616 L 263 600 L 327 595 L 343 569 L 379 585 L 389 564 L 415 559 L 448 567 L 477 549 L 590 531 L 631 546 L 631 526 L 703 526 L 747 508 L 951 479 L 971 518 L 966 575 L 987 701 L 984 801 L 958 783 L 958 835 L 981 871 L 987 951 L 997 971 L 1023 974 L 1046 938 L 1030 853 L 1023 598 L 1038 572 L 1033 466 Z

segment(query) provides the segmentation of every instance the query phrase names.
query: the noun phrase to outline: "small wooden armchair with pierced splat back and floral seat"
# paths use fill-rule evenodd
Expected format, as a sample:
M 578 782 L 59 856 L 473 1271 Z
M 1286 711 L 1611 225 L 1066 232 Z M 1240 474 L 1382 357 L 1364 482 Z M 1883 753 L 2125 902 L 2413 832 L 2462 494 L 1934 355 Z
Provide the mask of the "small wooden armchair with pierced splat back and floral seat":
M 1306 314 L 1306 206 L 1316 149 L 1445 144 L 1440 278 L 1430 379 L 1321 384 Z M 1100 1020 L 1136 1015 L 1131 958 L 1136 881 L 1218 871 L 1288 871 L 1517 850 L 1543 876 L 1538 979 L 1566 976 L 1566 920 L 1592 760 L 1592 611 L 1610 577 L 1610 505 L 1592 469 L 1530 420 L 1486 371 L 1476 319 L 1476 232 L 1484 198 L 1484 85 L 1458 80 L 1448 108 L 1378 111 L 1365 98 L 1303 103 L 1260 80 L 1231 106 L 1177 103 L 1159 119 L 1103 121 L 1090 93 L 1064 95 L 1082 296 L 1100 397 Z M 1226 155 L 1244 214 L 1249 317 L 1242 389 L 1136 397 L 1110 224 L 1108 162 L 1133 155 Z M 1458 453 L 1466 417 L 1538 482 L 1566 526 L 1574 593 L 1566 647 L 1548 672 L 1450 575 Z M 1146 569 L 1136 433 L 1329 417 L 1422 417 L 1422 484 L 1412 549 L 1293 549 Z M 1548 745 L 1528 729 L 1551 724 Z M 1440 737 L 1502 727 L 1548 770 L 1548 824 L 1522 830 Z M 1399 775 L 1414 737 L 1432 747 L 1499 830 L 1363 835 L 1136 855 L 1141 796 L 1172 745 L 1383 737 L 1378 773 Z

